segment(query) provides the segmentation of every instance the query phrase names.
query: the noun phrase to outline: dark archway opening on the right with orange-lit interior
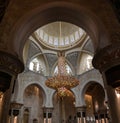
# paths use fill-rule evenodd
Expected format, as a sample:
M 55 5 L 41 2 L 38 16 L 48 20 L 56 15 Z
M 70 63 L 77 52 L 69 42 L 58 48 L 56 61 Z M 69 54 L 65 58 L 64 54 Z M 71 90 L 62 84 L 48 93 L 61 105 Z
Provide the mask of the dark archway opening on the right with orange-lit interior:
M 91 82 L 86 85 L 84 91 L 84 100 L 86 104 L 86 116 L 94 119 L 95 115 L 104 116 L 107 111 L 105 104 L 104 88 L 97 82 Z

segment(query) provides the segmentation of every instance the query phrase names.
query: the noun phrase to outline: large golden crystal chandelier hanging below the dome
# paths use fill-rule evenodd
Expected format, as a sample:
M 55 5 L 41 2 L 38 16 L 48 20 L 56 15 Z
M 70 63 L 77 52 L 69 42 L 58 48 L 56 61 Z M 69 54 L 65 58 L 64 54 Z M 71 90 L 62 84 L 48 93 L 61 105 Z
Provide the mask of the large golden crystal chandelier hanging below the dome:
M 49 88 L 55 89 L 60 97 L 69 96 L 70 89 L 79 84 L 79 80 L 67 73 L 64 53 L 58 53 L 58 73 L 52 78 L 48 78 L 45 84 Z

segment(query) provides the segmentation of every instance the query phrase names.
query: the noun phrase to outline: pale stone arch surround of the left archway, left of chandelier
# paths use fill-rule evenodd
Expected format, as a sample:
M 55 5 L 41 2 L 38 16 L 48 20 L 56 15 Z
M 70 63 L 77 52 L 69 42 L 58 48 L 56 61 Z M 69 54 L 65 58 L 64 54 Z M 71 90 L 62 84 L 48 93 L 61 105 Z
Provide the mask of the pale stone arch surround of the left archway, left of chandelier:
M 38 85 L 39 88 L 42 88 L 44 93 L 43 107 L 53 107 L 52 104 L 52 95 L 54 93 L 53 89 L 46 87 L 45 85 L 46 77 L 41 74 L 36 74 L 32 71 L 26 71 L 19 74 L 18 76 L 18 89 L 15 90 L 14 96 L 12 97 L 13 101 L 23 104 L 23 94 L 26 87 L 31 84 Z

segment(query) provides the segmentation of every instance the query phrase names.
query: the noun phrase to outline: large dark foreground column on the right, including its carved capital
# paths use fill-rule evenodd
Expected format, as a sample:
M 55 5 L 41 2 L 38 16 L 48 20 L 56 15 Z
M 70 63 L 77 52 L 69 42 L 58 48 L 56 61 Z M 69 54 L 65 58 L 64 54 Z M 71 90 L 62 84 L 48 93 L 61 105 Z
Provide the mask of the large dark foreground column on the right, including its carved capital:
M 118 40 L 120 36 L 118 37 Z M 114 39 L 116 40 L 116 39 Z M 108 96 L 110 123 L 120 122 L 120 106 L 115 89 L 120 87 L 120 43 L 116 42 L 99 50 L 93 58 L 93 66 L 102 74 Z

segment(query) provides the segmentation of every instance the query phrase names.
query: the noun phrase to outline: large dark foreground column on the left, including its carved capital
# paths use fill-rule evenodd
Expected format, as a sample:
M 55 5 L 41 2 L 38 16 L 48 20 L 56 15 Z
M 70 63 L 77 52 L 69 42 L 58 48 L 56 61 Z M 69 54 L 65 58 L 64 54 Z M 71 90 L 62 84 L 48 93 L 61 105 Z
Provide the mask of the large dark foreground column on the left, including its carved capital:
M 0 51 L 0 92 L 3 92 L 0 123 L 8 123 L 11 95 L 18 73 L 24 70 L 23 63 L 12 54 Z

